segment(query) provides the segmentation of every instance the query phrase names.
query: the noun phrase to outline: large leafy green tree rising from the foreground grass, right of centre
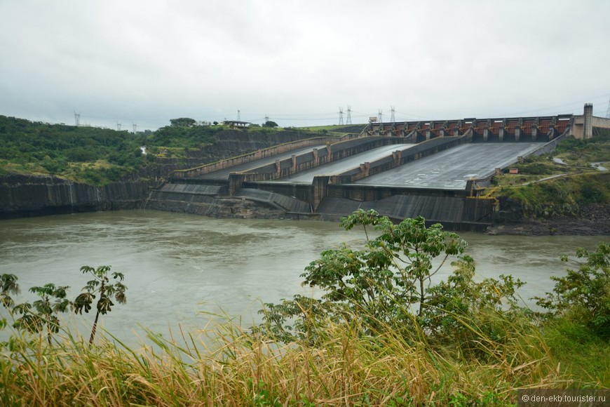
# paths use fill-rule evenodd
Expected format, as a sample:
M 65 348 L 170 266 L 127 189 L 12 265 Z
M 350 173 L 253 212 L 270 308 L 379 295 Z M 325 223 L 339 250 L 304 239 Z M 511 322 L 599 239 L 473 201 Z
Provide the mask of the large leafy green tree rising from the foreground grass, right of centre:
M 261 328 L 290 337 L 294 326 L 305 326 L 304 318 L 329 316 L 342 319 L 359 315 L 365 325 L 376 331 L 386 323 L 411 324 L 411 308 L 418 307 L 422 319 L 428 302 L 431 277 L 450 255 L 460 255 L 466 242 L 457 234 L 442 230 L 439 224 L 426 227 L 423 218 L 405 219 L 394 225 L 376 211 L 356 211 L 341 220 L 341 227 L 364 229 L 363 250 L 342 245 L 324 251 L 306 267 L 303 285 L 322 288 L 320 300 L 305 300 L 297 295 L 280 305 L 266 304 Z M 372 227 L 379 236 L 369 236 Z M 433 260 L 441 258 L 433 267 Z

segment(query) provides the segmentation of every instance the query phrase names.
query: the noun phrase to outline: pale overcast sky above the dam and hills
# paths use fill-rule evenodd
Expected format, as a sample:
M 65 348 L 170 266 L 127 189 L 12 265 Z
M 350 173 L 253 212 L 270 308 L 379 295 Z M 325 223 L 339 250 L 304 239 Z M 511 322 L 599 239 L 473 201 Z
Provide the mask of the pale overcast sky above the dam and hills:
M 582 114 L 606 0 L 0 0 L 0 114 L 131 130 Z

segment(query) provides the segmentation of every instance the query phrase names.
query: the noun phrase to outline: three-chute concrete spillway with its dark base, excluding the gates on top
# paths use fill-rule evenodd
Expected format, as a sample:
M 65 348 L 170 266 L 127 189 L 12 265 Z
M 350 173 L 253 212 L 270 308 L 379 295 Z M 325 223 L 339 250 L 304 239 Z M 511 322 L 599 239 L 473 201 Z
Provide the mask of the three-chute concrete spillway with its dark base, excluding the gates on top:
M 276 215 L 330 220 L 374 209 L 397 220 L 423 215 L 453 229 L 477 229 L 491 224 L 494 208 L 492 201 L 470 199 L 473 179 L 490 178 L 496 168 L 546 144 L 473 142 L 468 135 L 410 143 L 369 136 L 316 144 L 176 178 L 154 191 L 147 205 L 250 217 L 257 211 L 243 204 L 255 202 Z

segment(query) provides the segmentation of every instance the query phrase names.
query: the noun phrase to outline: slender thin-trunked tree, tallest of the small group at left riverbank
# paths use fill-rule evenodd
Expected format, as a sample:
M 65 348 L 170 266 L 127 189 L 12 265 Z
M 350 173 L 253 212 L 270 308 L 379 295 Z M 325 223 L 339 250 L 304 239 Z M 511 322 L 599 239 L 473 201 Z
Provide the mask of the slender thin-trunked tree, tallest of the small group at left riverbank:
M 114 300 L 119 304 L 125 304 L 127 302 L 125 295 L 127 287 L 121 283 L 124 276 L 119 272 L 112 272 L 111 277 L 115 282 L 111 283 L 109 277 L 110 268 L 111 266 L 100 266 L 97 267 L 97 269 L 90 266 L 81 267 L 81 272 L 83 274 L 91 274 L 93 280 L 87 282 L 86 286 L 83 287 L 84 293 L 81 293 L 76 297 L 76 300 L 74 300 L 74 312 L 76 312 L 76 314 L 83 314 L 83 311 L 88 313 L 96 294 L 99 293 L 100 295 L 100 298 L 95 305 L 95 320 L 93 321 L 89 343 L 93 343 L 93 338 L 95 338 L 97 321 L 100 318 L 100 314 L 105 315 L 108 312 L 111 312 L 111 307 L 114 306 L 114 302 L 112 302 L 111 298 L 114 297 Z

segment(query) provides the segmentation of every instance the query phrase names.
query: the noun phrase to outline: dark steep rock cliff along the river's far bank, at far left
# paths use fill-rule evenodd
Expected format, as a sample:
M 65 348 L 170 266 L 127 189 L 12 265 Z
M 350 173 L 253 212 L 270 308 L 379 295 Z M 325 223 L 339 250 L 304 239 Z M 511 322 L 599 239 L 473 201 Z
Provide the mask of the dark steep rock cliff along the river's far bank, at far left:
M 131 181 L 93 187 L 50 176 L 8 175 L 0 177 L 0 219 L 140 208 L 149 186 Z

